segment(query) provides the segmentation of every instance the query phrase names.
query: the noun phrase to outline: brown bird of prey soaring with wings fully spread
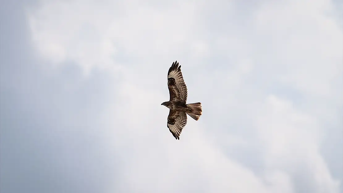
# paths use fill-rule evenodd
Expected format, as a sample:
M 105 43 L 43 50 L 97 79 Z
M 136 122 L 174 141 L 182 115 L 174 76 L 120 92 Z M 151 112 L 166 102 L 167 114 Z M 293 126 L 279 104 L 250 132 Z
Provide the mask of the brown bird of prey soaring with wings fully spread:
M 186 114 L 198 121 L 202 108 L 200 102 L 186 104 L 187 87 L 181 73 L 181 65 L 179 66 L 177 61 L 173 62 L 168 71 L 168 89 L 169 101 L 163 102 L 161 105 L 170 109 L 167 127 L 173 136 L 180 140 L 181 131 L 187 124 Z

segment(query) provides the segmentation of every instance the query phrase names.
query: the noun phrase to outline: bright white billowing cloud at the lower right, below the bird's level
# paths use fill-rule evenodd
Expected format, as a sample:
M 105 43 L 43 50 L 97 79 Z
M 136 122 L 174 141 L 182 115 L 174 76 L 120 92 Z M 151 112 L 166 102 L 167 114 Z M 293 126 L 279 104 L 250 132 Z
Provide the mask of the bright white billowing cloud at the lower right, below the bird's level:
M 268 169 L 282 169 L 294 176 L 301 167 L 315 183 L 318 192 L 339 192 L 340 182 L 331 177 L 319 152 L 321 132 L 316 120 L 296 109 L 289 101 L 275 96 L 267 99 L 265 112 L 257 117 L 259 137 L 265 145 Z

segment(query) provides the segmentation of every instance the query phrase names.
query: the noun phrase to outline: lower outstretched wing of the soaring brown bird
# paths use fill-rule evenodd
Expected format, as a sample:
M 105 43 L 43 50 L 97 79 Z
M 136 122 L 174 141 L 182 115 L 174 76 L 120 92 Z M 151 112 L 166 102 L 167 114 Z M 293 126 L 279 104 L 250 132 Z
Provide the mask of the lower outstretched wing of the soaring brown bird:
M 169 111 L 167 127 L 169 128 L 170 133 L 173 134 L 177 140 L 180 140 L 181 131 L 184 129 L 186 124 L 187 115 L 185 112 Z

